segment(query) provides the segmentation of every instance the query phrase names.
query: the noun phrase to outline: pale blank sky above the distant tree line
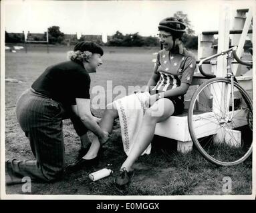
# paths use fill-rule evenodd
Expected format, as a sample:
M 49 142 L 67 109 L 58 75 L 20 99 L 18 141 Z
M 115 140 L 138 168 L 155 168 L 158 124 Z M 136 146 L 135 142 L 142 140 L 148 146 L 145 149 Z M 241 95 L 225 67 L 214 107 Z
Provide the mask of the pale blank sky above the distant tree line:
M 155 36 L 159 21 L 176 11 L 188 15 L 197 34 L 218 29 L 222 5 L 228 5 L 233 11 L 248 8 L 253 1 L 4 0 L 1 3 L 5 6 L 5 30 L 9 33 L 43 33 L 57 25 L 66 34 L 113 35 L 120 31 Z

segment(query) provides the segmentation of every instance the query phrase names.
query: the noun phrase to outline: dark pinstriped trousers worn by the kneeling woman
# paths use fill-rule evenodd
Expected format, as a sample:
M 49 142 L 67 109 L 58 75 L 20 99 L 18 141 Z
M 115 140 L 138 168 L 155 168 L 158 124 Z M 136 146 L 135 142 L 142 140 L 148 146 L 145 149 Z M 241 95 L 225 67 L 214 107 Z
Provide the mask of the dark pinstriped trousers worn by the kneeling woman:
M 70 118 L 79 136 L 86 134 L 86 126 L 71 108 L 64 108 L 33 89 L 19 97 L 16 113 L 36 160 L 7 160 L 6 171 L 11 179 L 29 176 L 31 180 L 51 182 L 61 178 L 64 168 L 62 120 Z

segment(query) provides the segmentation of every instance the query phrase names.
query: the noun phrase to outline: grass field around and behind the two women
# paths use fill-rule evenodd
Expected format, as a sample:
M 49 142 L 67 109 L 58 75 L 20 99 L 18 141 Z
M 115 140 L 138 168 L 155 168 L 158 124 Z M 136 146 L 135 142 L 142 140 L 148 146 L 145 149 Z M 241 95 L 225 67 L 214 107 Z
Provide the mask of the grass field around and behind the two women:
M 30 47 L 28 52 L 6 51 L 5 77 L 17 79 L 20 83 L 5 84 L 5 156 L 6 158 L 34 159 L 29 141 L 19 128 L 15 115 L 17 98 L 42 73 L 48 65 L 66 60 L 66 51 L 72 47 Z M 152 73 L 152 59 L 158 49 L 106 47 L 104 64 L 91 75 L 92 87 L 112 80 L 113 87 L 146 85 Z M 92 96 L 93 97 L 93 96 Z M 115 95 L 113 95 L 115 97 Z M 93 110 L 101 116 L 102 110 Z M 66 146 L 66 164 L 74 162 L 80 148 L 80 140 L 70 120 L 64 121 L 63 134 Z M 90 134 L 92 137 L 92 134 Z M 168 138 L 154 137 L 152 153 L 141 156 L 134 165 L 135 174 L 129 188 L 120 190 L 114 185 L 114 176 L 124 162 L 126 155 L 122 148 L 120 128 L 117 125 L 108 143 L 100 165 L 90 170 L 80 170 L 64 176 L 63 180 L 51 184 L 32 183 L 31 194 L 95 194 L 95 195 L 195 195 L 225 194 L 223 178 L 232 180 L 229 194 L 251 194 L 251 158 L 243 164 L 232 167 L 215 166 L 205 160 L 196 148 L 189 154 L 176 152 L 176 142 Z M 88 174 L 112 164 L 114 174 L 109 178 L 92 182 Z M 21 185 L 7 186 L 7 194 L 22 194 Z

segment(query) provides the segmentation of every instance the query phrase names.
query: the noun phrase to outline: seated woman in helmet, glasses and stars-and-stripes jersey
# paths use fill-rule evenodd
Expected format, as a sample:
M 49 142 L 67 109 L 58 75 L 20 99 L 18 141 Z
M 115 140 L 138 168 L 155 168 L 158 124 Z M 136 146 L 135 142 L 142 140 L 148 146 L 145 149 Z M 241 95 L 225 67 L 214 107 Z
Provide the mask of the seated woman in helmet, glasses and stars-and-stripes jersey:
M 156 123 L 183 111 L 184 94 L 192 82 L 196 63 L 195 57 L 186 51 L 181 44 L 185 29 L 186 26 L 182 20 L 174 17 L 168 17 L 159 23 L 159 39 L 164 49 L 157 55 L 154 72 L 148 81 L 146 90 L 140 91 L 140 94 L 150 94 L 149 107 L 144 110 L 138 130 L 139 134 L 137 134 L 130 150 L 126 152 L 128 157 L 120 168 L 120 175 L 115 180 L 119 186 L 130 182 L 130 176 L 133 173 L 132 165 L 150 145 Z M 134 93 L 139 92 L 135 91 Z M 128 97 L 122 99 L 125 100 Z M 122 116 L 120 113 L 117 101 L 108 105 L 100 121 L 102 130 L 111 133 L 114 119 Z M 78 169 L 81 166 L 96 162 L 100 145 L 98 138 L 95 137 L 88 153 L 74 165 L 74 168 Z

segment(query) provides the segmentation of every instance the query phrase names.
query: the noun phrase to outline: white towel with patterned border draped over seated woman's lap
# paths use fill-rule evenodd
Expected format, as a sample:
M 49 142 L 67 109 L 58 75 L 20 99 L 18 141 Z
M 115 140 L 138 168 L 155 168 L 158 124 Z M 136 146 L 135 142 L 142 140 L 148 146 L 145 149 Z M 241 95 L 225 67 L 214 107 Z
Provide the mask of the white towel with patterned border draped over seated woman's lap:
M 122 99 L 114 101 L 118 110 L 120 119 L 122 142 L 124 145 L 124 152 L 128 155 L 132 150 L 132 146 L 136 141 L 136 136 L 139 134 L 140 126 L 146 108 L 148 108 L 148 99 L 150 94 L 148 92 L 136 93 Z M 150 154 L 151 144 L 148 145 L 143 154 Z

